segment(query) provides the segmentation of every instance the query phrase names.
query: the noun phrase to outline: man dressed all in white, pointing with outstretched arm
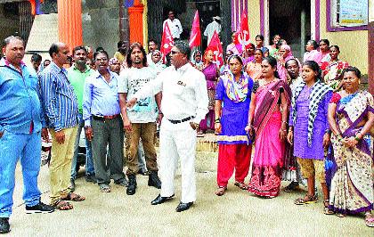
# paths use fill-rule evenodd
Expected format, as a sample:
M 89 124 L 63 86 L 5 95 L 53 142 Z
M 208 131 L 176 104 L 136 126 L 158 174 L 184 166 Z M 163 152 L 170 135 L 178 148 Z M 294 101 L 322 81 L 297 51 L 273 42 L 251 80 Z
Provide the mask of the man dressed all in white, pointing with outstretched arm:
M 174 197 L 174 178 L 177 159 L 181 159 L 182 198 L 176 208 L 181 212 L 191 207 L 196 200 L 195 155 L 196 130 L 207 114 L 207 84 L 204 74 L 191 66 L 190 47 L 177 41 L 171 50 L 171 67 L 143 86 L 127 107 L 137 100 L 162 91 L 161 108 L 164 113 L 159 133 L 159 175 L 161 193 L 151 201 L 158 205 Z

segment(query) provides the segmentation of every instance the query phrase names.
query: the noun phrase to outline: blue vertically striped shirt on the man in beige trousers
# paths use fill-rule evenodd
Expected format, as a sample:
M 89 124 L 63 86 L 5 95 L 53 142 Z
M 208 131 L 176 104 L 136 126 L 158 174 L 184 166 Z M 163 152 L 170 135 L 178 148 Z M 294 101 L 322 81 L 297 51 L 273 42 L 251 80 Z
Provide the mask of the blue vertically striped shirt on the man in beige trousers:
M 77 126 L 77 96 L 70 85 L 66 69 L 51 62 L 39 74 L 39 83 L 48 127 L 60 131 Z

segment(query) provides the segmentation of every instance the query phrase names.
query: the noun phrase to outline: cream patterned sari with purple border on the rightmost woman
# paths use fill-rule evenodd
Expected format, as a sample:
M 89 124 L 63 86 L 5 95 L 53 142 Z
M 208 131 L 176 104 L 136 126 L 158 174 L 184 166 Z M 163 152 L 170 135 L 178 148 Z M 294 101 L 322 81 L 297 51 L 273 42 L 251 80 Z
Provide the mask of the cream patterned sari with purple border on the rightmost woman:
M 337 127 L 343 137 L 356 135 L 369 111 L 374 112 L 373 96 L 359 91 L 340 98 L 334 94 L 331 102 L 337 103 Z M 332 135 L 333 159 L 330 160 L 332 180 L 329 208 L 337 213 L 356 214 L 373 208 L 373 151 L 370 133 L 363 136 L 354 148 L 346 147 Z

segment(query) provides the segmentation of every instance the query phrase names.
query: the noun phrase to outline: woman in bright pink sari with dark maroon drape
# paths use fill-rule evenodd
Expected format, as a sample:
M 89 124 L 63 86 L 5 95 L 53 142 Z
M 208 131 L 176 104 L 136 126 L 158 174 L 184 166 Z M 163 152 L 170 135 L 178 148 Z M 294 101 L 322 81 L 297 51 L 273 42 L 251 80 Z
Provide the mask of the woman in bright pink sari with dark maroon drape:
M 277 61 L 265 57 L 263 80 L 255 82 L 248 113 L 248 131 L 256 134 L 255 157 L 248 191 L 274 198 L 280 192 L 291 89 L 277 73 Z

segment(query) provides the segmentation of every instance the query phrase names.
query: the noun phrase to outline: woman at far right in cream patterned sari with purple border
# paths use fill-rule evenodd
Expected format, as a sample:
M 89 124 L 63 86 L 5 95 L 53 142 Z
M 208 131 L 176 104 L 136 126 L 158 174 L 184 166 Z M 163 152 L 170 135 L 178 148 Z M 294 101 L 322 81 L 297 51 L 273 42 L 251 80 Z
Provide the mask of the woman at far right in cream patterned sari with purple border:
M 334 94 L 329 103 L 329 126 L 332 130 L 332 180 L 329 208 L 338 217 L 365 213 L 366 225 L 374 227 L 371 215 L 374 201 L 373 96 L 359 90 L 361 72 L 354 67 L 343 71 L 345 89 Z

